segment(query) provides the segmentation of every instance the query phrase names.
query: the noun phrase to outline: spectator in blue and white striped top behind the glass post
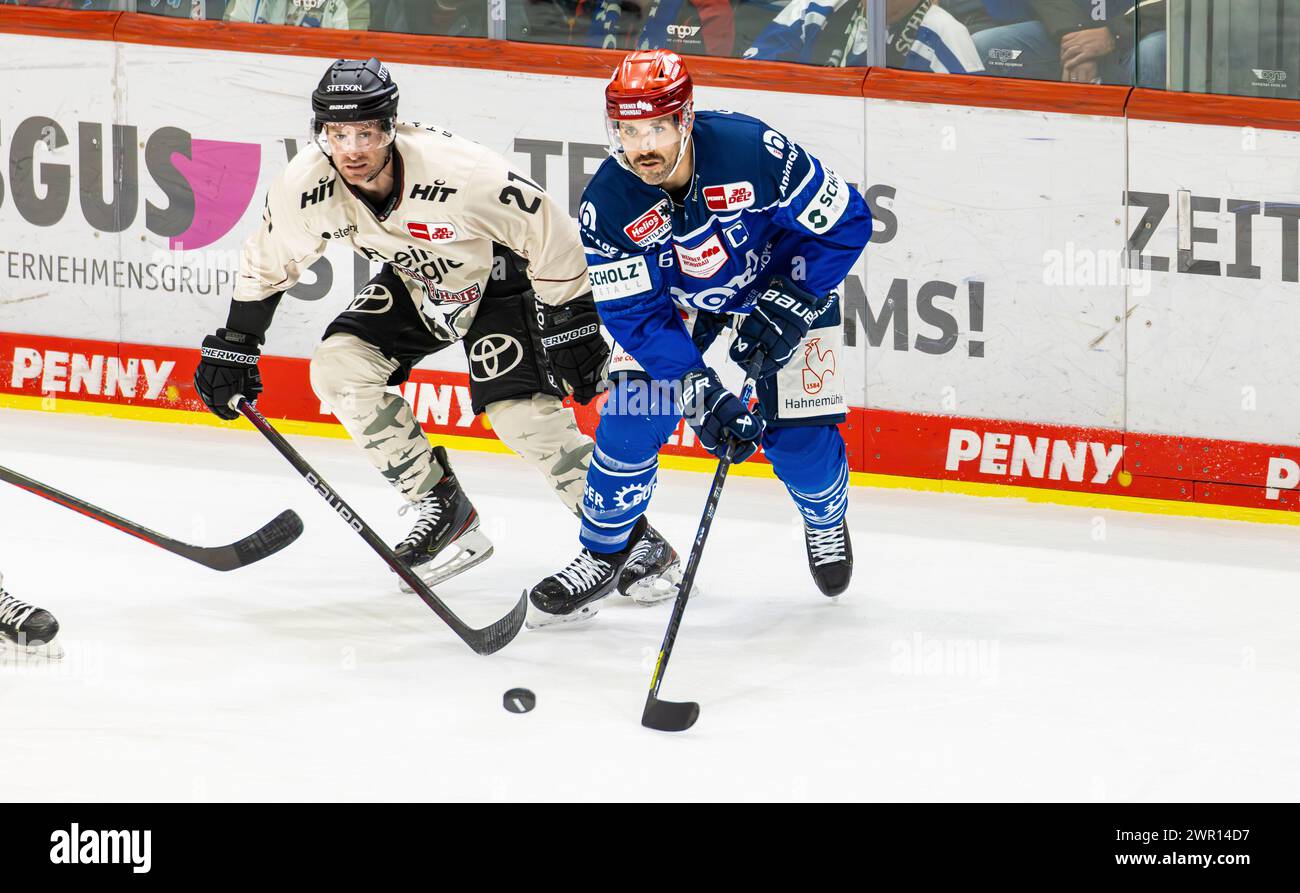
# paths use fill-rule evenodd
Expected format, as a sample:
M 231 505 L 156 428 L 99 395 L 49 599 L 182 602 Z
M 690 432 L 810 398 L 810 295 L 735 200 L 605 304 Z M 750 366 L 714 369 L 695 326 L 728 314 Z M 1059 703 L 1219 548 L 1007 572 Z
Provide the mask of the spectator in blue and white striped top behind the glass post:
M 866 65 L 866 0 L 790 0 L 763 29 L 745 58 L 820 65 Z M 937 0 L 885 0 L 885 64 L 914 71 L 978 74 L 970 31 Z

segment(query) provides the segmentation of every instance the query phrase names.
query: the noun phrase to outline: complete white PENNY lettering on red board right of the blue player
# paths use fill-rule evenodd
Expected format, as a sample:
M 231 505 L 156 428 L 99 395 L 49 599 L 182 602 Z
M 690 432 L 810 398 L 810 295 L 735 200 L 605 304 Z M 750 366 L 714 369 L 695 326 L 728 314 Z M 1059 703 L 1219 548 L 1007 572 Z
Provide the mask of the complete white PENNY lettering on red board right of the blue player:
M 961 471 L 962 465 L 978 459 L 979 473 L 993 477 L 1109 484 L 1123 455 L 1123 443 L 1063 441 L 1002 432 L 980 434 L 953 428 L 948 433 L 944 468 L 949 472 Z

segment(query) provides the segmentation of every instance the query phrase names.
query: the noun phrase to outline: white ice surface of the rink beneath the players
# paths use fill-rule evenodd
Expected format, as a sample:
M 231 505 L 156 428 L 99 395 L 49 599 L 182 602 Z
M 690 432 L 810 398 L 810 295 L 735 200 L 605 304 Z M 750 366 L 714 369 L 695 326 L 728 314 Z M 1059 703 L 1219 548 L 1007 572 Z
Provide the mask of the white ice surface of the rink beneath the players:
M 0 666 L 0 801 L 1300 798 L 1300 529 L 858 487 L 831 602 L 780 485 L 733 477 L 662 690 L 702 714 L 672 736 L 638 721 L 667 604 L 477 656 L 254 432 L 0 426 L 0 464 L 182 539 L 307 524 L 222 575 L 0 489 L 5 585 L 68 651 Z M 294 442 L 406 533 L 351 442 Z M 454 461 L 497 555 L 438 589 L 478 625 L 576 525 L 521 460 Z M 707 484 L 660 477 L 679 550 Z

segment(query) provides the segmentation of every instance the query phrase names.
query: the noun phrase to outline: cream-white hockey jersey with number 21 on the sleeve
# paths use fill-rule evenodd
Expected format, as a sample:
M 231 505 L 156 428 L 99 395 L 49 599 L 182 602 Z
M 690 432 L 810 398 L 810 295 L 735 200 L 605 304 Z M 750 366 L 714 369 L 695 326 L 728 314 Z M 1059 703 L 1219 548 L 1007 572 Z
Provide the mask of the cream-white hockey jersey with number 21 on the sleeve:
M 399 123 L 393 146 L 394 190 L 378 213 L 320 149 L 300 149 L 266 192 L 234 299 L 291 289 L 332 240 L 391 264 L 430 331 L 446 341 L 473 322 L 494 272 L 494 244 L 526 261 L 542 302 L 564 304 L 588 291 L 576 222 L 500 155 L 417 123 Z

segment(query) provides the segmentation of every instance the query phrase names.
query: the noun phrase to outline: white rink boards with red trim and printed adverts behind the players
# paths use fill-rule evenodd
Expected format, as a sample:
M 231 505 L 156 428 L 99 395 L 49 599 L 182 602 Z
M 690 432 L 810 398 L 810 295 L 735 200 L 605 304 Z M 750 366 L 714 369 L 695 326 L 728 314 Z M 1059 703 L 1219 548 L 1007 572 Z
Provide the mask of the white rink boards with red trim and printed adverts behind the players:
M 225 45 L 247 32 L 205 30 Z M 335 55 L 402 53 L 337 34 L 282 55 L 88 36 L 0 34 L 16 84 L 0 112 L 0 403 L 220 424 L 192 390 L 196 344 L 306 142 L 306 92 Z M 590 77 L 552 75 L 459 66 L 455 42 L 434 43 L 442 65 L 393 64 L 403 117 L 502 151 L 576 216 L 604 156 L 607 55 L 573 61 Z M 876 70 L 810 71 L 816 92 L 800 94 L 779 88 L 780 66 L 753 69 L 760 88 L 701 68 L 698 107 L 762 117 L 872 207 L 842 356 L 810 369 L 842 378 L 859 481 L 1295 520 L 1300 125 L 1286 104 L 1190 116 L 1147 91 Z M 289 292 L 263 361 L 268 416 L 342 435 L 306 357 L 372 273 L 332 246 Z M 430 432 L 500 448 L 467 383 L 448 350 L 407 391 Z M 667 452 L 705 458 L 689 430 Z

